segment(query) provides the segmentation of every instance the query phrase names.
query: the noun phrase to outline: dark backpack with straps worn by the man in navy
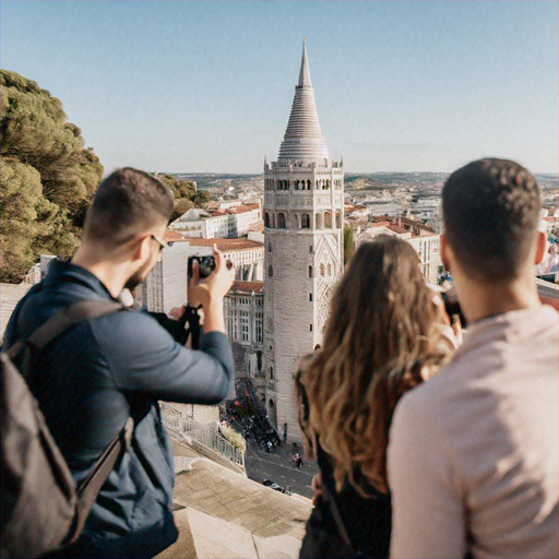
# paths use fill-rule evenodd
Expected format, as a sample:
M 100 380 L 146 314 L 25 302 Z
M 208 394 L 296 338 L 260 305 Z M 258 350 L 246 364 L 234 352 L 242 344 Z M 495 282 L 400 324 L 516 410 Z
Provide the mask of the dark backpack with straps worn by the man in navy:
M 132 418 L 76 486 L 25 381 L 40 352 L 60 334 L 121 309 L 108 300 L 79 301 L 2 350 L 2 559 L 38 557 L 73 544 L 117 459 L 130 445 Z

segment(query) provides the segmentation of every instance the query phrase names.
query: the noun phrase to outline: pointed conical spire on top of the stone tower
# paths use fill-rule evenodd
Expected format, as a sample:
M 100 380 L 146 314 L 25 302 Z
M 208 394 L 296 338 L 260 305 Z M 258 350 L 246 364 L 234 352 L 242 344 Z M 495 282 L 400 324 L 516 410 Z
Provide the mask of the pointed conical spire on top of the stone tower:
M 304 39 L 299 82 L 295 86 L 292 112 L 280 146 L 278 160 L 323 160 L 324 158 L 330 158 L 330 153 L 320 129 Z

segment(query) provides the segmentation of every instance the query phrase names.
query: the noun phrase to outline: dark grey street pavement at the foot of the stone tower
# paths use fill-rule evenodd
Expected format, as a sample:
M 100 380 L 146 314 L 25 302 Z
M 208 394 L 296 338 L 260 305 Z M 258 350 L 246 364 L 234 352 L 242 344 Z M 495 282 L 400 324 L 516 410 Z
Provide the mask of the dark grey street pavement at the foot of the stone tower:
M 302 454 L 301 449 L 299 449 L 299 452 Z M 319 467 L 316 463 L 305 460 L 305 456 L 302 459 L 304 465 L 299 471 L 293 465 L 293 449 L 290 444 L 281 444 L 269 454 L 259 444 L 249 442 L 245 467 L 249 478 L 254 481 L 262 483 L 264 479 L 272 479 L 283 487 L 289 485 L 294 492 L 310 499 L 312 498 L 310 484 L 312 476 L 318 474 Z

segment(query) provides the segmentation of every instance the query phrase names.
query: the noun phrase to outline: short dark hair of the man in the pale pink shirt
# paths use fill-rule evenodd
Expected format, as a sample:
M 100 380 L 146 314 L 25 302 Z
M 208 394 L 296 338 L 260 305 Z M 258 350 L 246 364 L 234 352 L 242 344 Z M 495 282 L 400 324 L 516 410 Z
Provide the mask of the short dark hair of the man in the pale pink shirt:
M 455 170 L 442 190 L 449 243 L 466 274 L 489 283 L 526 264 L 539 221 L 539 187 L 522 165 L 485 158 Z

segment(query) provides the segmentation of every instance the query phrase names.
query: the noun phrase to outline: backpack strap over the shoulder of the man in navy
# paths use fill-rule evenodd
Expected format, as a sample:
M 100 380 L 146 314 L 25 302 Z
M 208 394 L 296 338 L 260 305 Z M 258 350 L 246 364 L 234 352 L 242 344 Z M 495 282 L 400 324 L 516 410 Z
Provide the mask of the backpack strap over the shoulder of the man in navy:
M 116 312 L 124 307 L 120 302 L 107 299 L 84 299 L 74 302 L 50 317 L 37 328 L 29 336 L 15 342 L 7 352 L 13 359 L 25 345 L 32 345 L 35 349 L 43 349 L 52 340 L 66 330 L 84 320 L 96 319 L 104 314 Z

